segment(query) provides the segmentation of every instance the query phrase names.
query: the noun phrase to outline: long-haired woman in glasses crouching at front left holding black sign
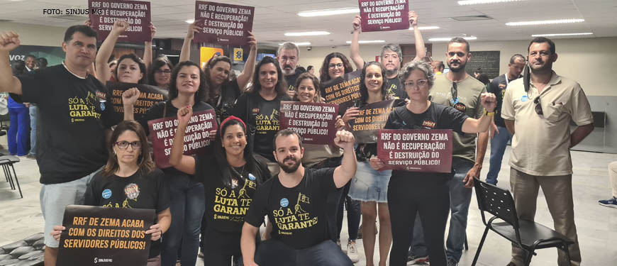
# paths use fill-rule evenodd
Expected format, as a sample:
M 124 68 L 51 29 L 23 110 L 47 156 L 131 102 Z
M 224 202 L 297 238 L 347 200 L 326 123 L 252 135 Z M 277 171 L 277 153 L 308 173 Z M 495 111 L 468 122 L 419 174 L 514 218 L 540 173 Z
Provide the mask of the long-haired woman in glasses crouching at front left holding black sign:
M 150 158 L 145 132 L 135 121 L 122 121 L 111 133 L 109 159 L 104 169 L 92 177 L 84 205 L 109 208 L 154 209 L 155 224 L 150 226 L 148 266 L 161 265 L 161 235 L 171 224 L 169 189 L 165 174 L 157 170 Z M 54 226 L 51 235 L 60 240 L 64 226 Z

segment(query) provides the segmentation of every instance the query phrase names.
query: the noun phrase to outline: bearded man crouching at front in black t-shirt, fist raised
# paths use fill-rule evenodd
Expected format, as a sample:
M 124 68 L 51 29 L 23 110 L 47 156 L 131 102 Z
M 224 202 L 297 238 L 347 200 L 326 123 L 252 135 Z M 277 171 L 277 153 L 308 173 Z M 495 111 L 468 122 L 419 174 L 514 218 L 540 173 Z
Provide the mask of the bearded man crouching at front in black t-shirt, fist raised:
M 298 133 L 284 129 L 274 136 L 274 157 L 282 171 L 253 196 L 240 240 L 244 265 L 353 265 L 330 239 L 327 214 L 337 206 L 326 199 L 355 175 L 354 137 L 338 131 L 334 143 L 343 148 L 341 165 L 314 170 L 301 163 L 304 148 Z M 272 239 L 255 249 L 255 235 L 266 215 Z

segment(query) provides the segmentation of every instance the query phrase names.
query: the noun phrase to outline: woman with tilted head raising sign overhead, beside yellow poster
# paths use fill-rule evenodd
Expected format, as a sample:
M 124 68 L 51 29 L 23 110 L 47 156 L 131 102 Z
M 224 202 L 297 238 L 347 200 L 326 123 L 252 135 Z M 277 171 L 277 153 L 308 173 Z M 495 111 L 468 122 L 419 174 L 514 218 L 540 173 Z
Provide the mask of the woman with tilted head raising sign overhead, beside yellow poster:
M 194 34 L 202 29 L 197 25 L 198 23 L 203 23 L 203 21 L 194 21 L 189 25 L 189 31 L 187 31 L 187 36 L 184 37 L 182 52 L 180 52 L 180 62 L 189 60 L 191 56 L 191 40 L 193 40 Z M 255 71 L 257 40 L 252 33 L 248 35 L 247 44 L 250 46 L 250 52 L 242 72 L 237 77 L 231 70 L 230 58 L 224 55 L 215 55 L 204 65 L 210 95 L 208 104 L 216 110 L 218 121 L 223 121 L 230 116 L 230 109 L 233 108 L 240 94 L 244 92 L 253 71 Z

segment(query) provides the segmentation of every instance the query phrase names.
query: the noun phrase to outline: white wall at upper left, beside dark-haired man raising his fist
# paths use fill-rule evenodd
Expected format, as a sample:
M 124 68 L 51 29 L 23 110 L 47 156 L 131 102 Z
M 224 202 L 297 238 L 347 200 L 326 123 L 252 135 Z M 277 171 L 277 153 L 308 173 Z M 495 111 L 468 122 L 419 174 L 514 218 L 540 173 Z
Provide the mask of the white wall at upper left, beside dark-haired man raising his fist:
M 79 22 L 75 21 L 75 25 Z M 68 28 L 68 27 L 67 27 Z M 23 45 L 62 46 L 67 28 L 1 22 L 0 31 L 15 31 Z

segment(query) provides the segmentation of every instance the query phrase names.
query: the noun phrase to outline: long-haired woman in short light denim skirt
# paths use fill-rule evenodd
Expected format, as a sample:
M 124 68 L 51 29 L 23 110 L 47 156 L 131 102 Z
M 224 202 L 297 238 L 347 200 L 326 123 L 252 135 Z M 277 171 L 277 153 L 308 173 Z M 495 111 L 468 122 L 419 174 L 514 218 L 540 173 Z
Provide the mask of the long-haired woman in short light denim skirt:
M 349 121 L 356 118 L 359 109 L 367 104 L 392 99 L 387 94 L 384 77 L 386 70 L 379 62 L 369 62 L 362 68 L 360 76 L 360 100 L 343 115 L 343 122 L 349 126 Z M 349 196 L 362 201 L 362 244 L 365 248 L 367 265 L 373 265 L 375 248 L 375 221 L 379 217 L 379 265 L 385 266 L 392 243 L 390 214 L 388 211 L 388 180 L 391 170 L 376 171 L 369 165 L 369 159 L 377 156 L 376 143 L 358 143 L 356 148 L 357 171 L 351 181 Z

